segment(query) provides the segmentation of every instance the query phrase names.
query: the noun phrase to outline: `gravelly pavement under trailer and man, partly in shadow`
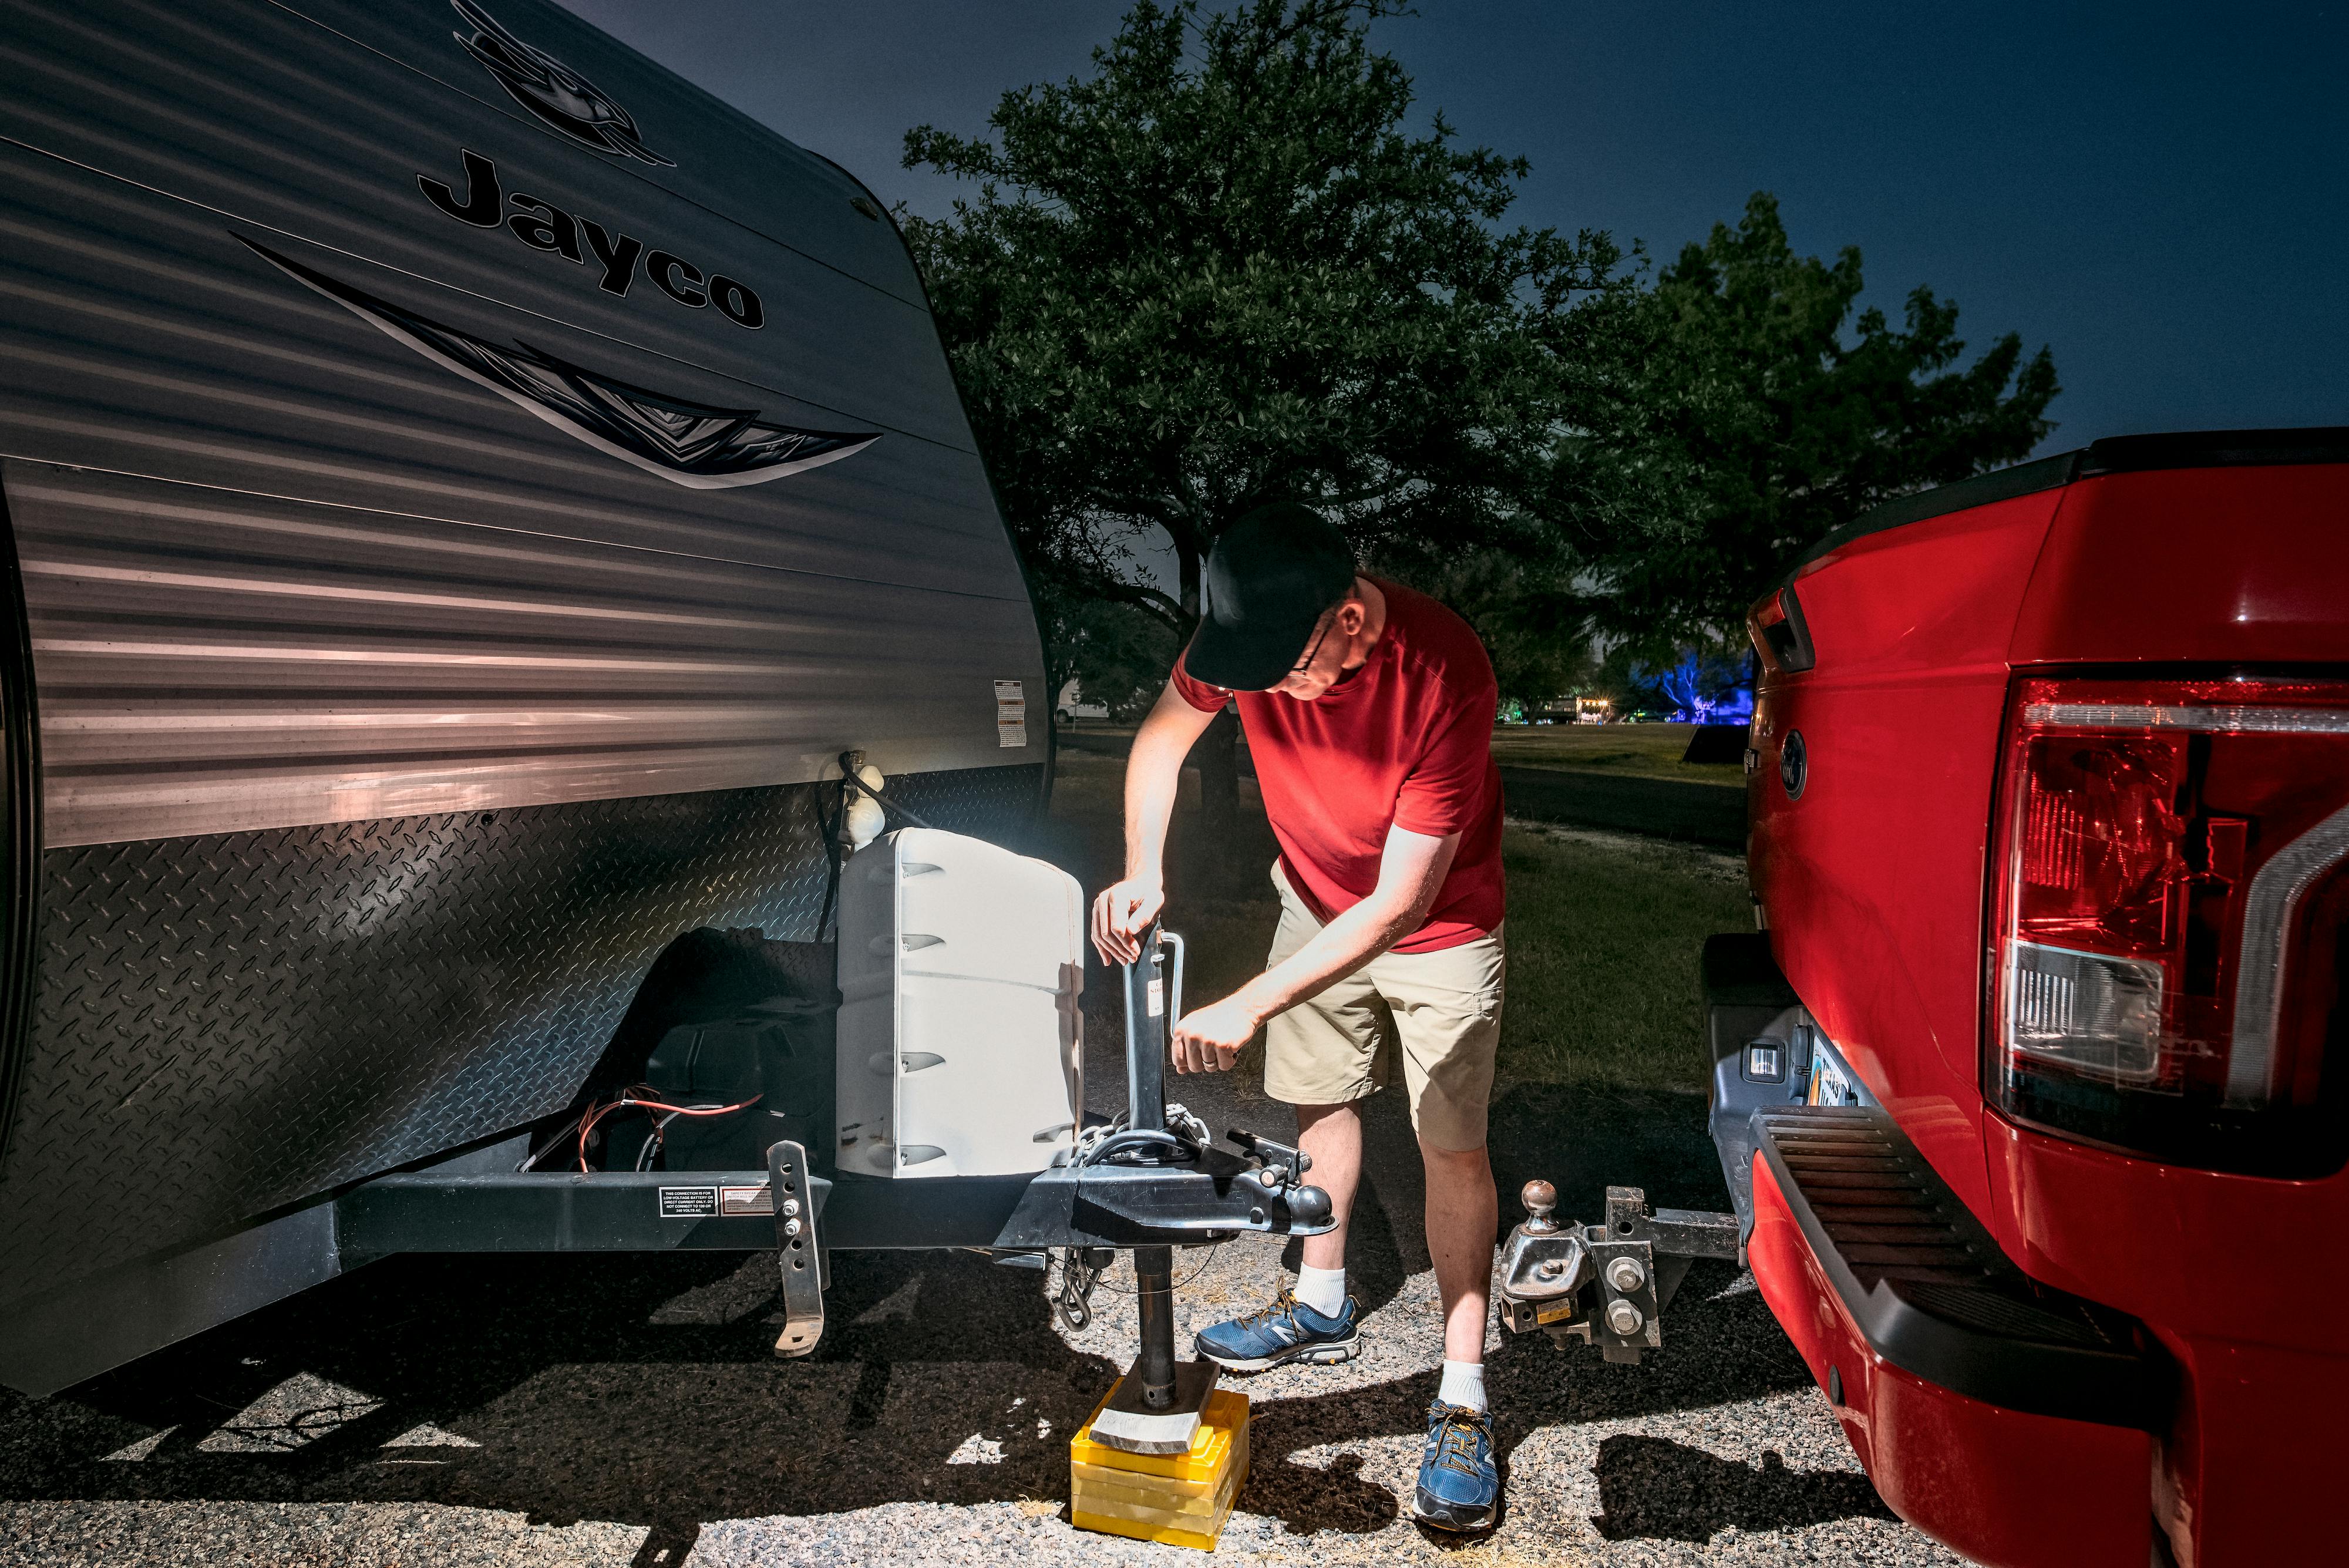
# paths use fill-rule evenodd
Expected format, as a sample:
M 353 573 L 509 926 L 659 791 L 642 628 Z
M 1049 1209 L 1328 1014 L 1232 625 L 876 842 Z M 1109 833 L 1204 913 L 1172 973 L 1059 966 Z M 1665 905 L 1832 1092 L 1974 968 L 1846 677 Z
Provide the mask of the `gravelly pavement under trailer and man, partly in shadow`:
M 1111 1101 L 1109 1019 L 1092 1038 Z M 1245 1077 L 1174 1094 L 1217 1129 L 1294 1129 Z M 1510 1089 L 1501 1190 L 1541 1174 L 1567 1214 L 1595 1214 L 1607 1181 L 1727 1207 L 1701 1127 L 1694 1096 Z M 1752 1279 L 1717 1263 L 1642 1366 L 1496 1331 L 1501 1526 L 1419 1530 L 1440 1338 L 1400 1094 L 1372 1101 L 1367 1167 L 1367 1350 L 1236 1380 L 1252 1474 L 1221 1559 L 1961 1561 L 1886 1514 Z M 1182 1329 L 1259 1305 L 1292 1265 L 1264 1237 L 1177 1253 Z M 1064 1521 L 1069 1432 L 1132 1354 L 1120 1286 L 1123 1261 L 1066 1333 L 1034 1272 L 839 1253 L 822 1347 L 778 1361 L 768 1256 L 392 1258 L 54 1399 L 0 1394 L 0 1563 L 1198 1561 Z

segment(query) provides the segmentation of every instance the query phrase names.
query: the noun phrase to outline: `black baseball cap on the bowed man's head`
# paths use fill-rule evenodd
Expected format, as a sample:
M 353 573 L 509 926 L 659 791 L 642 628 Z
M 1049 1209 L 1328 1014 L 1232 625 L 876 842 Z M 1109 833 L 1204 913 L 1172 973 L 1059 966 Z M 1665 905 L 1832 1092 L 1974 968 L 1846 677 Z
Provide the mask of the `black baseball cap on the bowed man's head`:
M 1353 549 L 1334 523 L 1294 500 L 1257 507 L 1207 554 L 1207 603 L 1182 667 L 1224 690 L 1271 690 L 1351 587 Z

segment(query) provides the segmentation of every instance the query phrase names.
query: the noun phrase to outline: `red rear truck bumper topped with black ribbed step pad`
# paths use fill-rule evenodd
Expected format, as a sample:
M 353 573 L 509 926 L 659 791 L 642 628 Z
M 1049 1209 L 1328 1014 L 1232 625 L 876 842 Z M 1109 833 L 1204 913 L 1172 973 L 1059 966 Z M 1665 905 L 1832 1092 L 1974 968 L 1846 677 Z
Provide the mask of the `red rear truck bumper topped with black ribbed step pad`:
M 2142 1568 L 2170 1366 L 2027 1282 L 1870 1108 L 1755 1117 L 1748 1261 L 1884 1500 L 1994 1568 Z

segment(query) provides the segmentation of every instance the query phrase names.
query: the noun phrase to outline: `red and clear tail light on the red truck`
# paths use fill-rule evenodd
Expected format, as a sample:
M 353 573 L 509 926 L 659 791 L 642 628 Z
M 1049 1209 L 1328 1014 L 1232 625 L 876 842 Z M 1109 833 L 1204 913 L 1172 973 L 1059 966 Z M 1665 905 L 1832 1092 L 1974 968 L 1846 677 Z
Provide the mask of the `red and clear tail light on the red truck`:
M 2349 1157 L 2349 681 L 2015 681 L 1990 1096 L 2178 1164 Z

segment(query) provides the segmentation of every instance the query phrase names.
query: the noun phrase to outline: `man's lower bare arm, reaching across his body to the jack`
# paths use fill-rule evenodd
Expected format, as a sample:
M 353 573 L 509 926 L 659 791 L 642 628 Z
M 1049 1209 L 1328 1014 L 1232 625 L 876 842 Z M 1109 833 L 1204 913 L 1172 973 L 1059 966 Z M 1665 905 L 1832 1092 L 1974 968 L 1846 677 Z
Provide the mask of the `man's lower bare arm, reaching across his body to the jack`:
M 1214 1073 L 1229 1068 L 1266 1019 L 1320 995 L 1416 932 L 1428 918 L 1459 847 L 1459 833 L 1428 838 L 1407 829 L 1386 829 L 1379 885 L 1369 890 L 1369 897 L 1221 1002 L 1186 1012 L 1174 1023 L 1174 1070 Z

